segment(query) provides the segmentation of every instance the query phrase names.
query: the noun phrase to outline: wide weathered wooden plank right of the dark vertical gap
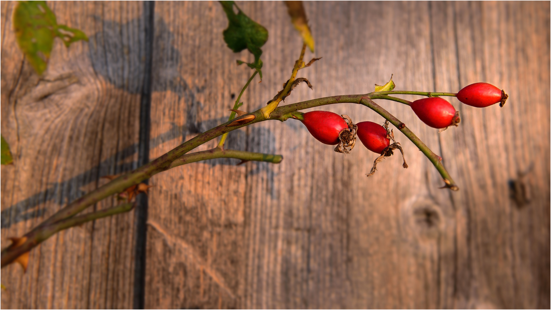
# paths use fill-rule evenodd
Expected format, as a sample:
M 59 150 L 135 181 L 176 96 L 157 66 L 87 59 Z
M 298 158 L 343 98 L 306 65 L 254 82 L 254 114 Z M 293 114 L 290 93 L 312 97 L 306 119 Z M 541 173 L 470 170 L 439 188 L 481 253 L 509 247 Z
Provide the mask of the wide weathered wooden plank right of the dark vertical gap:
M 287 80 L 301 42 L 282 3 L 238 3 L 269 31 L 264 79 L 244 96 L 254 110 Z M 381 103 L 441 154 L 458 193 L 437 189 L 434 167 L 399 134 L 409 168 L 390 158 L 366 178 L 375 154 L 337 154 L 294 120 L 229 136 L 227 147 L 283 154 L 281 164 L 220 160 L 156 175 L 146 307 L 549 307 L 549 4 L 305 8 L 323 58 L 300 72 L 314 91 L 299 87 L 288 103 L 370 92 L 391 73 L 397 89 L 485 81 L 510 99 L 502 109 L 449 99 L 462 124 L 440 135 L 407 106 Z M 159 2 L 155 17 L 152 137 L 163 138 L 152 158 L 224 121 L 250 74 L 235 66 L 247 52 L 225 49 L 218 3 Z M 382 122 L 354 104 L 322 109 Z M 509 183 L 526 171 L 530 202 L 517 206 Z

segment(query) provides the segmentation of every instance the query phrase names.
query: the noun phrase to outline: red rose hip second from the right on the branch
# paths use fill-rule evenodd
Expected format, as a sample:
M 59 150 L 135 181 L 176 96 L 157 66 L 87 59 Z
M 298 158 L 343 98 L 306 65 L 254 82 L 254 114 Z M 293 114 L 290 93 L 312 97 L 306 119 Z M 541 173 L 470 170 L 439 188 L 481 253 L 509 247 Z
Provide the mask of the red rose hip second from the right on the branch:
M 415 100 L 411 107 L 419 119 L 430 127 L 445 128 L 459 122 L 459 116 L 455 117 L 453 105 L 440 97 Z

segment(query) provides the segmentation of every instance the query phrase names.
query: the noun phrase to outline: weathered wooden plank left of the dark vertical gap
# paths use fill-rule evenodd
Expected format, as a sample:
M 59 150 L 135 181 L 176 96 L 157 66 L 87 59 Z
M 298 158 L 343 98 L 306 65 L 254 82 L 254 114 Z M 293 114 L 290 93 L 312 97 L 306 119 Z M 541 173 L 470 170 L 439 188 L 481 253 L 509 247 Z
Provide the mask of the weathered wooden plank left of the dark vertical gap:
M 144 70 L 141 2 L 48 2 L 90 41 L 66 49 L 56 40 L 42 81 L 15 44 L 15 5 L 2 2 L 2 135 L 15 155 L 2 166 L 2 248 L 104 184 L 102 175 L 136 168 Z M 25 274 L 17 264 L 2 270 L 2 308 L 131 308 L 133 226 L 129 212 L 48 239 Z

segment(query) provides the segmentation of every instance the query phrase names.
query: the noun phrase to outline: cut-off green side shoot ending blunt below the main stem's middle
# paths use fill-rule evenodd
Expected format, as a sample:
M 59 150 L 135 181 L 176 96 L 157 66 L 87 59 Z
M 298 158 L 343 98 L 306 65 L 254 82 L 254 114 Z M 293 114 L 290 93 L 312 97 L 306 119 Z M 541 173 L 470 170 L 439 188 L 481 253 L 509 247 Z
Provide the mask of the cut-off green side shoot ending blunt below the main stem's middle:
M 213 158 L 237 158 L 242 161 L 256 161 L 256 162 L 268 162 L 278 164 L 283 160 L 281 155 L 253 153 L 246 151 L 237 151 L 235 149 L 223 149 L 215 147 L 208 149 L 207 151 L 195 152 L 191 154 L 185 154 L 184 156 L 176 159 L 170 165 L 170 168 L 178 167 L 179 165 L 185 165 L 188 163 L 206 161 Z

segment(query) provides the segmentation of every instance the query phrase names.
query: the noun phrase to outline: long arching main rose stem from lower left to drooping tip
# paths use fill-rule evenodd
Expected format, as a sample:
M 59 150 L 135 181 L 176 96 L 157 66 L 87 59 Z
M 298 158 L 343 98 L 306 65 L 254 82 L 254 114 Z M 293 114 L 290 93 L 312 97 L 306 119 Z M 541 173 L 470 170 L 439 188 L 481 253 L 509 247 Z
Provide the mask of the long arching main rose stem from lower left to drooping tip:
M 19 257 L 19 255 L 28 252 L 30 249 L 36 247 L 39 243 L 44 241 L 47 237 L 44 237 L 42 235 L 42 231 L 52 223 L 56 223 L 58 221 L 66 220 L 67 218 L 73 217 L 74 215 L 77 215 L 77 213 L 82 212 L 83 210 L 87 209 L 89 206 L 94 205 L 96 202 L 105 199 L 106 197 L 109 197 L 111 195 L 121 193 L 123 190 L 129 188 L 132 185 L 136 185 L 140 183 L 141 181 L 145 179 L 151 178 L 153 175 L 163 172 L 165 170 L 168 170 L 172 167 L 172 163 L 174 163 L 177 159 L 182 157 L 187 152 L 191 151 L 192 149 L 218 137 L 223 135 L 226 132 L 230 132 L 236 129 L 239 129 L 244 126 L 249 126 L 252 124 L 255 124 L 257 122 L 266 121 L 266 120 L 279 120 L 279 121 L 285 121 L 289 119 L 290 117 L 298 118 L 301 114 L 295 113 L 298 110 L 308 109 L 308 108 L 314 108 L 316 106 L 322 106 L 322 105 L 328 105 L 328 104 L 336 104 L 336 103 L 361 103 L 364 105 L 367 105 L 369 108 L 375 110 L 377 113 L 381 114 L 383 117 L 388 119 L 392 122 L 393 125 L 397 126 L 398 129 L 400 129 L 404 135 L 406 135 L 409 140 L 412 140 L 412 142 L 419 147 L 423 151 L 423 153 L 429 157 L 430 161 L 435 165 L 436 169 L 440 172 L 440 175 L 442 175 L 442 178 L 444 180 L 449 181 L 450 189 L 457 190 L 457 185 L 453 184 L 453 181 L 451 180 L 449 174 L 446 172 L 446 169 L 444 169 L 444 166 L 437 161 L 436 154 L 434 154 L 428 147 L 424 145 L 423 142 L 417 138 L 407 127 L 404 127 L 401 129 L 399 125 L 401 125 L 401 122 L 396 119 L 396 117 L 389 114 L 386 110 L 382 109 L 379 105 L 375 104 L 370 99 L 371 95 L 373 94 L 361 94 L 361 95 L 337 95 L 332 97 L 325 97 L 325 98 L 317 98 L 313 100 L 307 100 L 302 101 L 299 103 L 284 105 L 284 106 L 278 106 L 273 112 L 270 114 L 269 117 L 264 117 L 264 114 L 262 113 L 262 110 L 256 110 L 252 113 L 242 115 L 240 117 L 237 117 L 235 121 L 238 121 L 239 119 L 249 119 L 251 117 L 254 117 L 249 122 L 243 122 L 242 124 L 235 125 L 235 126 L 229 126 L 231 122 L 234 120 L 225 122 L 224 124 L 220 124 L 212 129 L 209 129 L 200 135 L 192 138 L 191 140 L 188 140 L 181 145 L 177 146 L 176 148 L 172 149 L 171 151 L 161 155 L 160 157 L 154 159 L 152 162 L 149 162 L 142 167 L 139 167 L 137 169 L 134 169 L 133 171 L 121 175 L 120 177 L 110 181 L 109 183 L 100 186 L 98 189 L 95 189 L 91 191 L 88 194 L 85 194 L 84 196 L 80 197 L 77 200 L 74 200 L 71 202 L 71 204 L 68 204 L 67 206 L 63 207 L 59 211 L 57 211 L 55 214 L 53 214 L 50 218 L 42 222 L 39 226 L 35 227 L 32 231 L 26 233 L 24 237 L 27 237 L 26 241 L 21 244 L 17 248 L 7 248 L 2 251 L 2 259 L 1 259 L 1 266 L 6 266 L 9 263 L 12 263 L 16 258 Z M 374 96 L 376 96 L 375 94 Z

